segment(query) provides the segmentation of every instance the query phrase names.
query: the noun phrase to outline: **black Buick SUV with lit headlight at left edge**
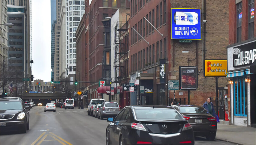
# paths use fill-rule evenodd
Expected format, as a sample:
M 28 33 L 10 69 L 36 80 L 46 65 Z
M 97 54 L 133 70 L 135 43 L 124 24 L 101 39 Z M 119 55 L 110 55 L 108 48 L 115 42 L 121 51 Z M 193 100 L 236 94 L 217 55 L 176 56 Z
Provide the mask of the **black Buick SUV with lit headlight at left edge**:
M 0 98 L 0 130 L 29 130 L 29 109 L 21 98 Z

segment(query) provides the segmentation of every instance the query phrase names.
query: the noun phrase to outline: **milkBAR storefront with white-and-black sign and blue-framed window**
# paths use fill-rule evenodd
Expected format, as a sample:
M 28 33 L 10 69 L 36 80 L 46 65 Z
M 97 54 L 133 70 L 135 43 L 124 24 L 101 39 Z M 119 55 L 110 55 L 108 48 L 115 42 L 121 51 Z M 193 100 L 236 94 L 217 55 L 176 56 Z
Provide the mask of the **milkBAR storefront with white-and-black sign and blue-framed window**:
M 251 40 L 227 47 L 232 125 L 255 126 L 255 72 L 250 69 L 256 59 L 255 45 Z

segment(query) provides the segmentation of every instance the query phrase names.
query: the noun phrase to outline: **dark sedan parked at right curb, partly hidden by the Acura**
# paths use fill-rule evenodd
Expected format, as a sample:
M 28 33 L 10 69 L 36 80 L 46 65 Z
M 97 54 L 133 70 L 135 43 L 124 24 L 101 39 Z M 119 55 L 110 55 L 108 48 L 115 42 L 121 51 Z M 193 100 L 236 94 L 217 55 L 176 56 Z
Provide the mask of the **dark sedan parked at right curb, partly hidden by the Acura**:
M 193 127 L 195 136 L 206 137 L 207 140 L 214 140 L 217 132 L 216 118 L 201 106 L 173 105 Z

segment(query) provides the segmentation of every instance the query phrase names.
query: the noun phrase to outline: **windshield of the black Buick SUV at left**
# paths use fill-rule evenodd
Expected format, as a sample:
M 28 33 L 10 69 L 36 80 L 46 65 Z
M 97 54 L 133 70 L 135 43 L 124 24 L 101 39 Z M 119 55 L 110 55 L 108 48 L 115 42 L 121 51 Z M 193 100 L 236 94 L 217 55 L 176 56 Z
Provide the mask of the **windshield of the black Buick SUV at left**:
M 20 101 L 0 101 L 0 110 L 22 110 Z

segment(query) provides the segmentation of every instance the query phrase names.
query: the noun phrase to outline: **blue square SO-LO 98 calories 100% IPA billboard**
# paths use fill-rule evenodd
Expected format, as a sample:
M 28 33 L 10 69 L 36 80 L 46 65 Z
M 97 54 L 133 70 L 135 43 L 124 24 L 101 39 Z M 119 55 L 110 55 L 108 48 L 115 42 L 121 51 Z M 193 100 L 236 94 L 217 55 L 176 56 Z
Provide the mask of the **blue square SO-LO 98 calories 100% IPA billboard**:
M 171 39 L 201 40 L 201 9 L 171 8 Z

